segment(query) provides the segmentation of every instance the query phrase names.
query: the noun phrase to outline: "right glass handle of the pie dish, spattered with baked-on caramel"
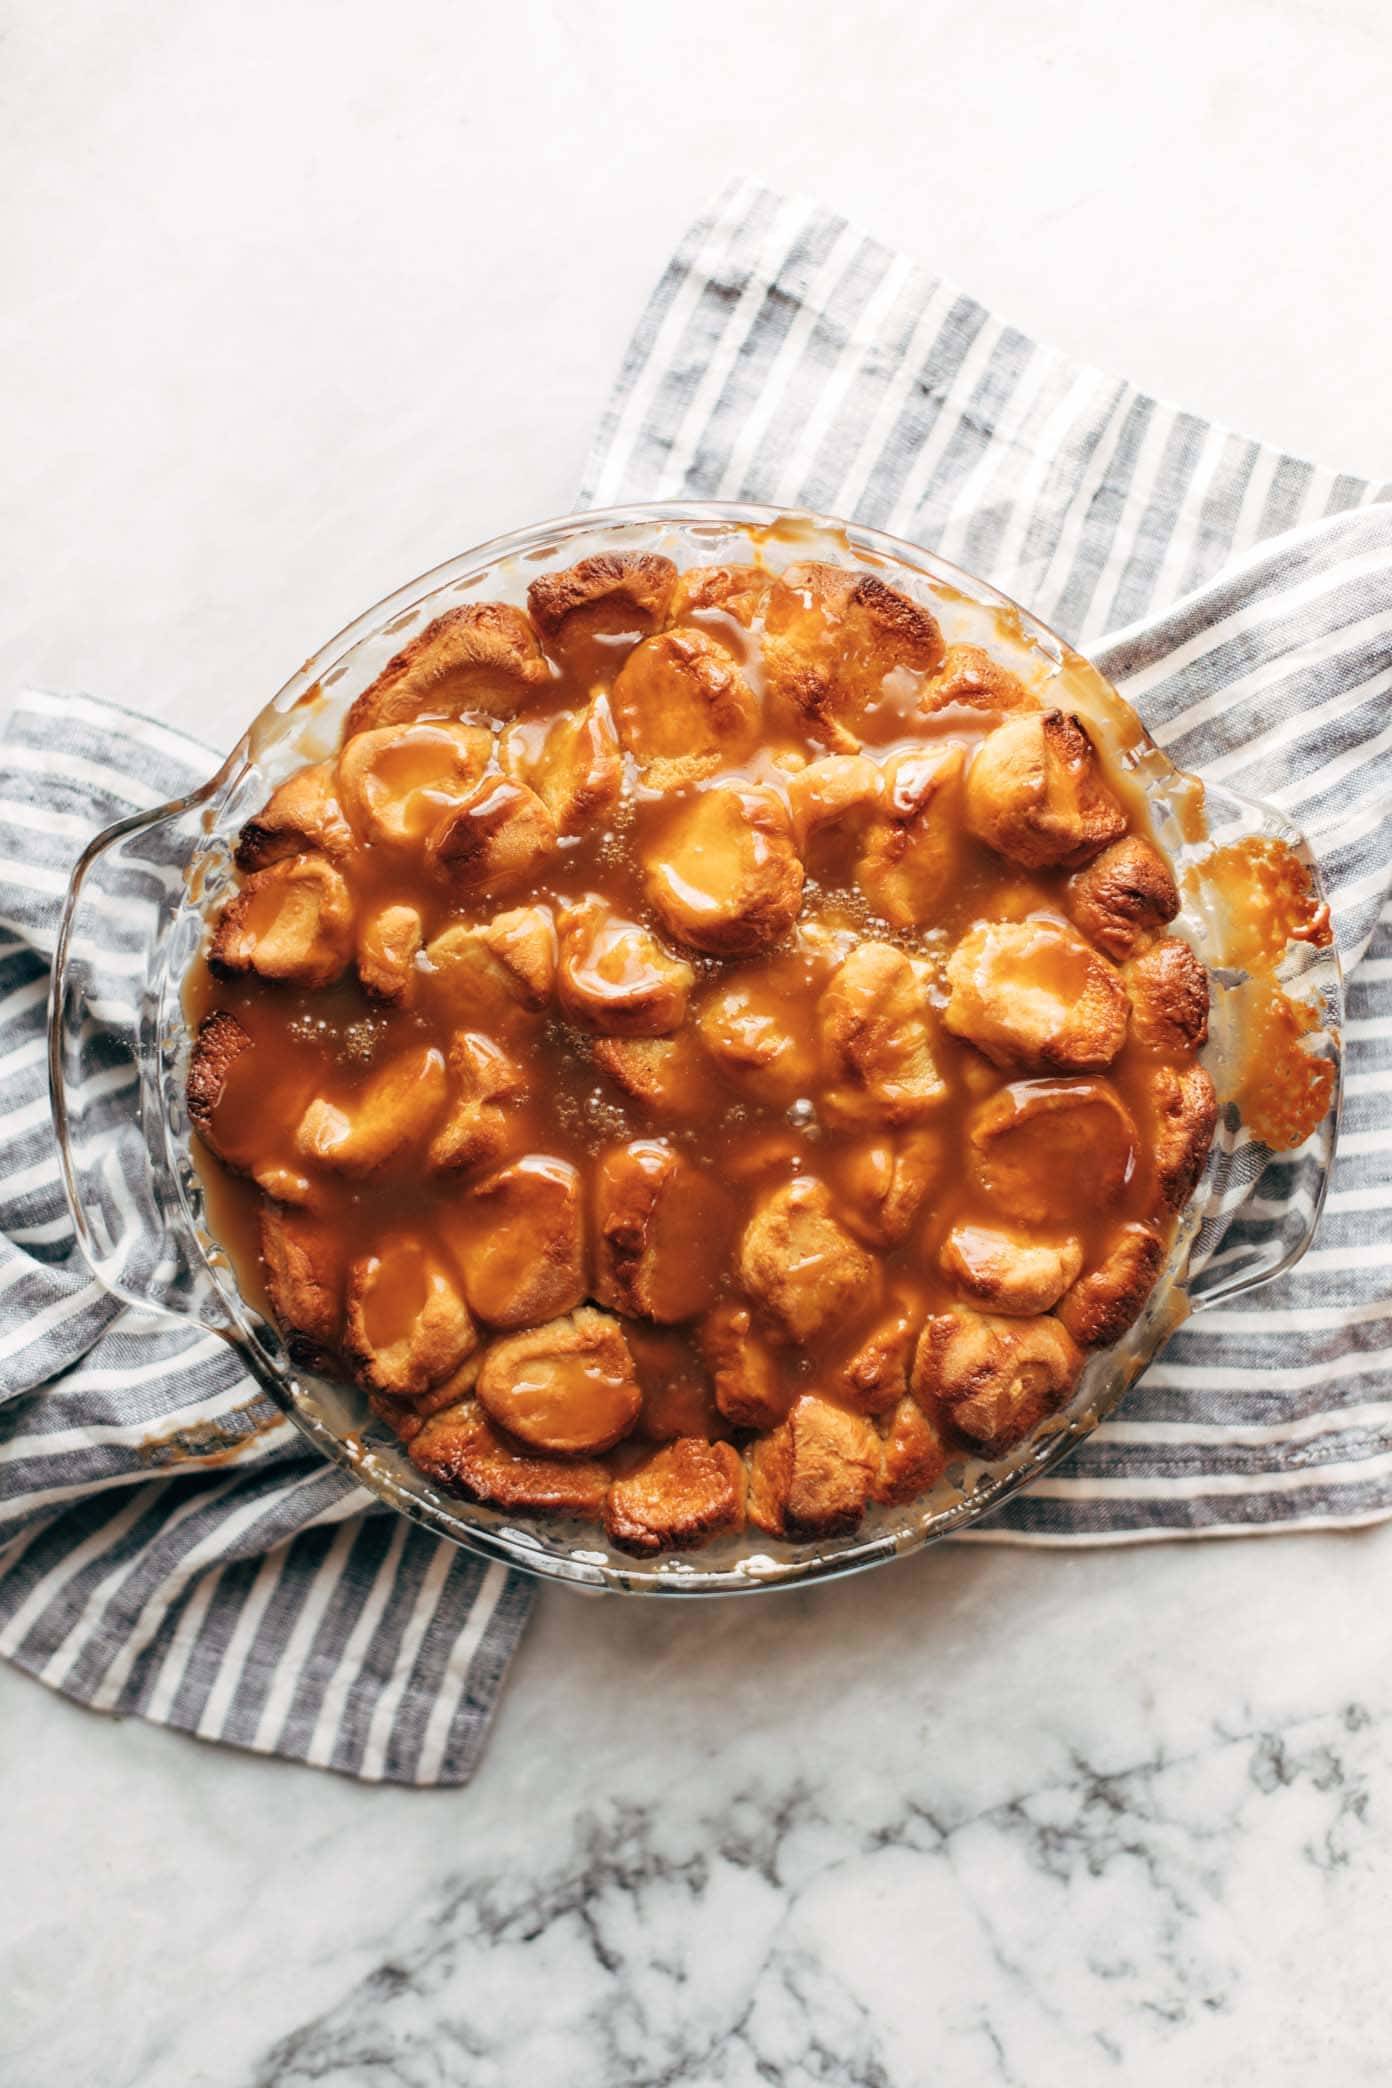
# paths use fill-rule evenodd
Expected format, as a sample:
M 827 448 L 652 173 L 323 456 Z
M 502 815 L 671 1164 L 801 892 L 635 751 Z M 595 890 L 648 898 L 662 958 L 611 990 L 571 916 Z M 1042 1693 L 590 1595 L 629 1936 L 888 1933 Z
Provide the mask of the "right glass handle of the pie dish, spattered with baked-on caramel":
M 1248 973 L 1223 969 L 1223 921 L 1229 908 L 1240 908 L 1246 898 L 1244 885 L 1233 885 L 1233 862 L 1242 864 L 1242 844 L 1277 844 L 1277 848 L 1288 850 L 1309 877 L 1311 919 L 1323 908 L 1325 925 L 1329 894 L 1306 833 L 1273 804 L 1208 779 L 1204 779 L 1204 804 L 1208 835 L 1190 858 L 1190 873 L 1183 881 L 1185 912 L 1196 904 L 1198 921 L 1206 929 L 1200 940 L 1210 952 L 1215 1031 L 1219 1038 L 1227 1038 L 1227 1052 L 1242 1052 L 1242 983 Z M 1235 858 L 1233 844 L 1238 844 Z M 1223 852 L 1221 881 L 1210 873 L 1210 862 L 1219 852 Z M 1256 883 L 1252 892 L 1256 892 L 1256 906 L 1263 908 L 1265 896 Z M 1208 938 L 1217 938 L 1217 944 Z M 1334 938 L 1323 944 L 1292 940 L 1283 952 L 1271 952 L 1271 958 L 1273 969 L 1267 977 L 1294 1002 L 1306 1002 L 1315 1011 L 1317 1021 L 1306 1038 L 1306 1048 L 1331 1067 L 1329 1092 L 1323 1115 L 1311 1134 L 1292 1150 L 1279 1153 L 1252 1136 L 1240 1102 L 1229 1102 L 1223 1109 L 1208 1167 L 1204 1209 L 1190 1255 L 1187 1295 L 1190 1309 L 1196 1313 L 1208 1311 L 1213 1305 L 1227 1305 L 1292 1270 L 1315 1238 L 1334 1178 L 1344 1094 L 1344 971 L 1338 942 Z M 1227 1004 L 1225 1021 L 1219 1015 L 1219 1004 Z M 1217 1071 L 1219 1067 L 1215 1067 Z M 1254 1150 L 1263 1157 L 1256 1169 L 1252 1167 Z

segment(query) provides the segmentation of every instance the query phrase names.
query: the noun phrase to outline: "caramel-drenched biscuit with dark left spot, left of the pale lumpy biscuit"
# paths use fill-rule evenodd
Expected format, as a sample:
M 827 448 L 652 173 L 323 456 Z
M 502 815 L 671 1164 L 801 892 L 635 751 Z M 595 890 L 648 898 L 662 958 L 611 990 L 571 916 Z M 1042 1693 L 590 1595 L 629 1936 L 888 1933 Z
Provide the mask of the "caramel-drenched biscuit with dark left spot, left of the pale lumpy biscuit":
M 595 1297 L 674 1324 L 710 1305 L 730 1244 L 724 1190 L 662 1138 L 609 1146 L 595 1169 Z

